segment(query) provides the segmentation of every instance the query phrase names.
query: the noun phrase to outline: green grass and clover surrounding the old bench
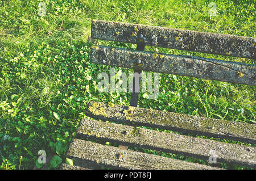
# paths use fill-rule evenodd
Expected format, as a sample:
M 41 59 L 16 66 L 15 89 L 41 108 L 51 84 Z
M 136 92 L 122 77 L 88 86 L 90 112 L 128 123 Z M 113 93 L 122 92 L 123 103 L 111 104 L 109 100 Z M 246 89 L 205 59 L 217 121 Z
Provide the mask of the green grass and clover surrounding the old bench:
M 218 14 L 211 19 L 211 1 L 205 0 L 48 0 L 43 1 L 46 16 L 38 16 L 39 2 L 0 2 L 0 169 L 40 167 L 36 159 L 42 149 L 47 156 L 58 155 L 65 162 L 68 143 L 90 100 L 129 104 L 129 93 L 98 94 L 96 90 L 97 74 L 109 72 L 110 67 L 90 63 L 92 19 L 255 37 L 251 1 L 214 1 Z M 135 49 L 130 44 L 100 43 Z M 158 51 L 255 64 L 246 58 Z M 253 86 L 160 74 L 159 92 L 157 100 L 140 95 L 139 106 L 255 123 Z M 59 165 L 59 157 L 53 157 L 48 169 Z

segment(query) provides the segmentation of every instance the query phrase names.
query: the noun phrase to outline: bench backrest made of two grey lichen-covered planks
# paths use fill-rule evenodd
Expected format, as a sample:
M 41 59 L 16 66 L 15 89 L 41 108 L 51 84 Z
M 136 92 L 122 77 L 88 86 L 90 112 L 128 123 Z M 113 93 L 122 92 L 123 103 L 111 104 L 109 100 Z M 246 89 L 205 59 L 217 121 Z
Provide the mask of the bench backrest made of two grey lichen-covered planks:
M 139 37 L 143 35 L 142 37 Z M 256 39 L 130 23 L 92 21 L 92 39 L 256 59 Z M 141 60 L 138 63 L 137 60 Z M 256 86 L 256 65 L 93 45 L 96 64 Z

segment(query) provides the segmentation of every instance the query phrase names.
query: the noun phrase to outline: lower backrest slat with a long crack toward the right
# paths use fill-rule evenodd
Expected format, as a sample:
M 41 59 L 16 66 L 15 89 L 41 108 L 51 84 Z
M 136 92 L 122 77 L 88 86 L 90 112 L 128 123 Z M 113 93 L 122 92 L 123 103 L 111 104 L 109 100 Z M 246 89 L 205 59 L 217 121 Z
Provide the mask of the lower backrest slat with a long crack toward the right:
M 138 59 L 142 61 L 141 64 L 137 64 Z M 104 46 L 92 46 L 91 61 L 95 64 L 256 86 L 256 65 L 240 62 Z

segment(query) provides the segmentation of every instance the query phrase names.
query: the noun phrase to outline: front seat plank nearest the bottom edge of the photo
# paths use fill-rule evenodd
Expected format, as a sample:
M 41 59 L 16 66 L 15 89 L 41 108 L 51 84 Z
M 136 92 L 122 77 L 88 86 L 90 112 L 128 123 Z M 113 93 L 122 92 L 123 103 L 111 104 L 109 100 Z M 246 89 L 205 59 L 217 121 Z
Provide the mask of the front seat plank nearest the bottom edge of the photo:
M 121 158 L 118 158 L 119 154 L 121 154 Z M 180 161 L 139 151 L 124 150 L 76 138 L 73 139 L 69 146 L 67 157 L 73 159 L 74 165 L 79 167 L 84 165 L 87 167 L 88 163 L 92 163 L 113 169 L 217 169 L 216 167 L 198 163 Z

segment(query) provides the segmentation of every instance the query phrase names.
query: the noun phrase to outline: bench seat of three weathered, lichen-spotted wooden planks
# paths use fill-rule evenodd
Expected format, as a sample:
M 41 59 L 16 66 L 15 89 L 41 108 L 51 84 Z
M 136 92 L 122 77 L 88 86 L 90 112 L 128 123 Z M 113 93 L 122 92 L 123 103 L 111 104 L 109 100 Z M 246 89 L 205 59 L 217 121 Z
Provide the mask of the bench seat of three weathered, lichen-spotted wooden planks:
M 214 150 L 218 162 L 255 167 L 256 149 L 252 146 L 191 136 L 228 138 L 255 144 L 254 124 L 101 102 L 89 102 L 86 115 L 97 120 L 81 120 L 76 138 L 67 151 L 67 157 L 73 159 L 76 169 L 101 169 L 101 166 L 110 169 L 219 169 L 122 149 L 125 146 L 199 159 L 208 159 L 210 150 Z M 151 129 L 148 129 L 149 127 Z M 182 134 L 157 131 L 156 128 L 179 131 Z M 122 146 L 108 146 L 105 142 Z M 61 168 L 74 167 L 63 165 Z

